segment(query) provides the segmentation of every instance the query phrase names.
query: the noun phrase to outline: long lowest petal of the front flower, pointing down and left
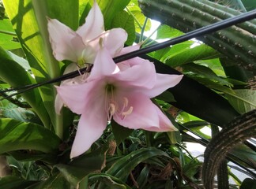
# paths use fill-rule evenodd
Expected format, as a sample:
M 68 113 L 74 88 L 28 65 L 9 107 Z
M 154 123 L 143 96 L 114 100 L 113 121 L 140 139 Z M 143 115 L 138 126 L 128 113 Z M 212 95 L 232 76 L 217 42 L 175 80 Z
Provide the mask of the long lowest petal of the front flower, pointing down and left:
M 107 126 L 107 113 L 104 111 L 104 98 L 96 99 L 80 117 L 77 134 L 73 141 L 70 158 L 75 158 L 87 151 L 103 134 Z

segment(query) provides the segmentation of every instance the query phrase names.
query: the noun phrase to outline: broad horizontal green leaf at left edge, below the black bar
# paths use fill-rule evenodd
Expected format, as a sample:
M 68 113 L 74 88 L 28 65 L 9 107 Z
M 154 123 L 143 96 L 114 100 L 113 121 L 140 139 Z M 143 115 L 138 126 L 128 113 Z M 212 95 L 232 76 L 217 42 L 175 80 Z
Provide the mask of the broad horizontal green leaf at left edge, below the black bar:
M 55 153 L 60 142 L 57 135 L 38 124 L 0 119 L 0 154 L 13 150 Z

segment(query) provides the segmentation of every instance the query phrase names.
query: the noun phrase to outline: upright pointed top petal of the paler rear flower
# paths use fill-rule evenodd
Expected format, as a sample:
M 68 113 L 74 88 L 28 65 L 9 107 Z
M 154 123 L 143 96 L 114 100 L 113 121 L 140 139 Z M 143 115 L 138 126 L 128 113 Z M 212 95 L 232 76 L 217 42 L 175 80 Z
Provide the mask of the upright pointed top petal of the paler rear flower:
M 85 24 L 77 29 L 77 34 L 81 35 L 83 42 L 95 39 L 104 32 L 104 17 L 97 2 L 94 1 L 92 9 L 85 19 Z

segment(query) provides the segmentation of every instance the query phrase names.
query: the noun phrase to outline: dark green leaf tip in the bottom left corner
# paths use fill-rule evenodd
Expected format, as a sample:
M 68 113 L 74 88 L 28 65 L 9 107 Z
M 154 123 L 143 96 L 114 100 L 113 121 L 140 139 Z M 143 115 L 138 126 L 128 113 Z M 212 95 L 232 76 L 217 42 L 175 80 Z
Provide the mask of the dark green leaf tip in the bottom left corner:
M 22 180 L 16 176 L 5 176 L 0 178 L 1 189 L 26 188 L 38 181 Z

